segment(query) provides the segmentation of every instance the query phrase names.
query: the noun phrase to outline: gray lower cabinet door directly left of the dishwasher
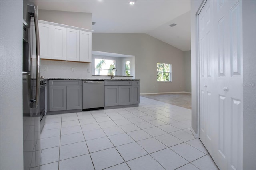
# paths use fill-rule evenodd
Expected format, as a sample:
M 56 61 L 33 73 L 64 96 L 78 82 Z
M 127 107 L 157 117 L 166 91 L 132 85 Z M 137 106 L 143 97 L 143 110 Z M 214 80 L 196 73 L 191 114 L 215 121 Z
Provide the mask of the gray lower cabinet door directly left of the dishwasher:
M 82 86 L 67 86 L 67 110 L 82 109 Z

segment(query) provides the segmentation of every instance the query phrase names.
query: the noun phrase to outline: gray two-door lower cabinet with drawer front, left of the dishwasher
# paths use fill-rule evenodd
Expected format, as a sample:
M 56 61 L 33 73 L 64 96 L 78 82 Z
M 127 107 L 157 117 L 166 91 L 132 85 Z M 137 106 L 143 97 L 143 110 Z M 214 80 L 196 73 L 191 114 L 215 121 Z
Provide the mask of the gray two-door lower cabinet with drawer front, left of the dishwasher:
M 82 109 L 82 81 L 50 80 L 49 111 Z

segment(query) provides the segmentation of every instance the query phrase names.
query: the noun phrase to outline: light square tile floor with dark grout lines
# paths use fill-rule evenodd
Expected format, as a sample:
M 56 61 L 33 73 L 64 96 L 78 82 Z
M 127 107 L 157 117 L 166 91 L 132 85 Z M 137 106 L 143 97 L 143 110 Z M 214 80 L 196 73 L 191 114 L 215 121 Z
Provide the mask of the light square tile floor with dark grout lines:
M 190 132 L 191 110 L 153 99 L 47 115 L 45 123 L 40 170 L 218 169 Z

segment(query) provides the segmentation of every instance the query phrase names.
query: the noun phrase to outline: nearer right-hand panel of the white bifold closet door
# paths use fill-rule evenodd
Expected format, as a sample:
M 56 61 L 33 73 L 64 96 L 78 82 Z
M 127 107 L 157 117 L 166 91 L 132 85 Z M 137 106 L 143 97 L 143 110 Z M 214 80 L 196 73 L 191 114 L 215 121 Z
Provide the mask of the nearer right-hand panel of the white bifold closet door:
M 242 169 L 242 2 L 216 1 L 218 140 L 216 163 Z

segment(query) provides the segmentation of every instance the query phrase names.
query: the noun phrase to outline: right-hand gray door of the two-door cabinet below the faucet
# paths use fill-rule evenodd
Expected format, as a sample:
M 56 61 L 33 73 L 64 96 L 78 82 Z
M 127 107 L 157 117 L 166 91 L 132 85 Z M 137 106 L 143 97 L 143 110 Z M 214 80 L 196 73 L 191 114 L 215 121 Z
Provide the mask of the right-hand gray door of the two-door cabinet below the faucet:
M 132 86 L 124 85 L 119 86 L 119 105 L 132 104 Z

